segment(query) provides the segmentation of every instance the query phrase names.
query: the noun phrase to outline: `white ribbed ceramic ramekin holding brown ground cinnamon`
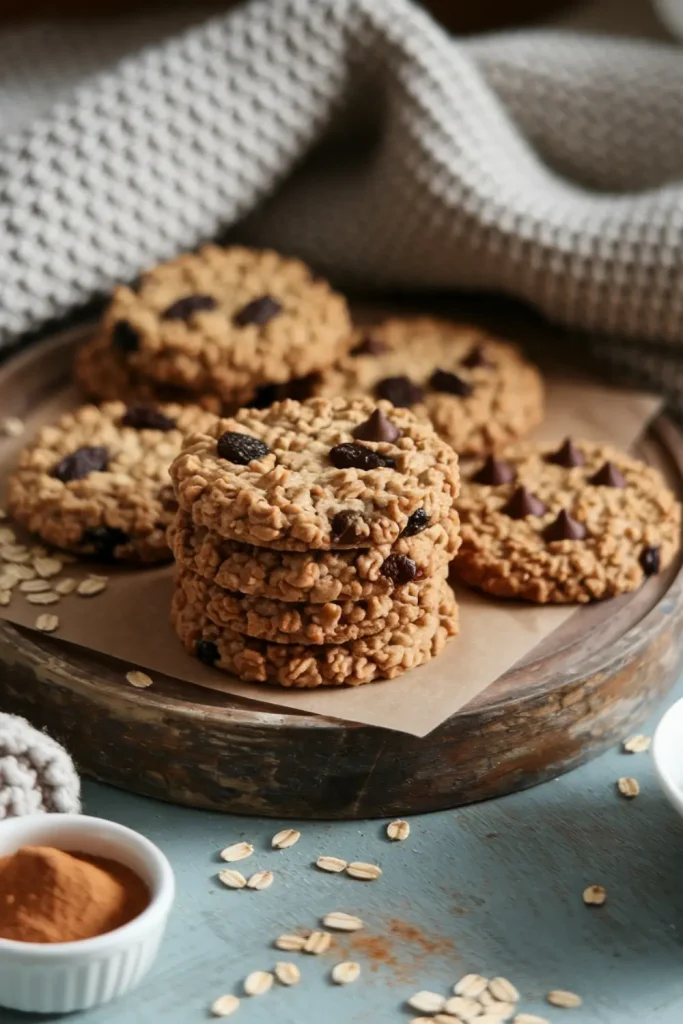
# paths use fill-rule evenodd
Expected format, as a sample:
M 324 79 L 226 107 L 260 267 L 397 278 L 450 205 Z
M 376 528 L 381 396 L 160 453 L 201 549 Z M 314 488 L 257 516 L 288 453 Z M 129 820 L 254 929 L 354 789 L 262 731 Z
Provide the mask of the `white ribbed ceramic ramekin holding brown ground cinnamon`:
M 175 881 L 164 854 L 131 828 L 80 814 L 0 821 L 0 856 L 23 846 L 118 860 L 147 884 L 152 899 L 129 924 L 94 939 L 47 944 L 0 939 L 0 1006 L 65 1014 L 129 992 L 152 967 L 173 904 Z

